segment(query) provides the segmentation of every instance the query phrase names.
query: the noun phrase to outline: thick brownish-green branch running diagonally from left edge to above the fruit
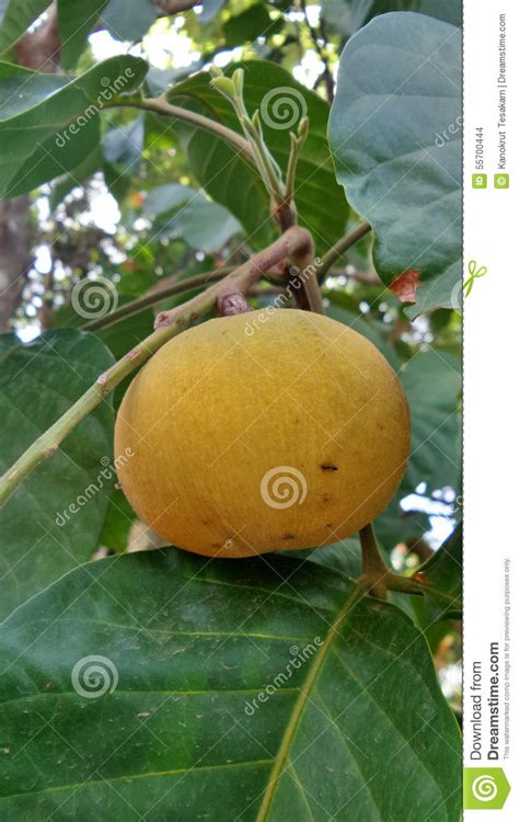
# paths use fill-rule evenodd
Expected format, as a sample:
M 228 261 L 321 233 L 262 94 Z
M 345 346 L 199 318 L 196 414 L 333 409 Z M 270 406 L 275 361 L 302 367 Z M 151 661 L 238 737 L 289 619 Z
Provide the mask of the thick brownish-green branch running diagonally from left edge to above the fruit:
M 82 395 L 47 431 L 42 434 L 0 479 L 0 506 L 4 505 L 23 480 L 43 463 L 53 456 L 59 444 L 119 383 L 137 367 L 143 365 L 164 343 L 181 331 L 189 328 L 215 306 L 222 288 L 246 293 L 260 277 L 274 265 L 284 260 L 304 256 L 312 252 L 313 242 L 310 233 L 296 226 L 286 231 L 268 248 L 252 256 L 228 274 L 220 283 L 215 283 L 205 292 L 173 308 L 160 313 L 155 320 L 155 330 L 142 340 L 135 349 L 125 354 L 107 372 L 101 374 L 95 383 Z

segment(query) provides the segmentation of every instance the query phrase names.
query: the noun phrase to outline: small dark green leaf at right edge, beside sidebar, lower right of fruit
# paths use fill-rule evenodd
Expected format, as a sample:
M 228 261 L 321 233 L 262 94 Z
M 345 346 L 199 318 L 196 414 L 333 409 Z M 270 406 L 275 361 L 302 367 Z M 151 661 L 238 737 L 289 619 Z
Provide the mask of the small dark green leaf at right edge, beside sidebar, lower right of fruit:
M 442 593 L 425 596 L 428 623 L 461 619 L 462 596 L 462 528 L 458 526 L 449 539 L 419 569 L 429 583 Z

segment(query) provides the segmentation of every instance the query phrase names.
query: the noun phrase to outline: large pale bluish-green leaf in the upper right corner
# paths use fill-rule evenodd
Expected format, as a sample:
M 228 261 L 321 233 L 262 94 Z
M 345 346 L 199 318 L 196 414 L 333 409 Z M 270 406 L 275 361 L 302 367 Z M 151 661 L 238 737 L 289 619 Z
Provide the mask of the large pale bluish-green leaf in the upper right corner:
M 337 178 L 373 225 L 383 282 L 419 273 L 412 317 L 451 307 L 461 277 L 460 92 L 460 32 L 428 16 L 378 16 L 341 57 L 330 121 Z

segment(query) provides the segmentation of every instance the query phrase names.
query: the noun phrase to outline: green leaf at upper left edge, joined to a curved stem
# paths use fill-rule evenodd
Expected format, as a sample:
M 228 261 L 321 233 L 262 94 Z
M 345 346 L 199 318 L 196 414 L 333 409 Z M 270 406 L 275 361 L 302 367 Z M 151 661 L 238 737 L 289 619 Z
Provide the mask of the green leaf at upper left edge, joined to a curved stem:
M 100 111 L 117 93 L 137 87 L 147 69 L 145 60 L 120 56 L 70 81 L 28 75 L 16 113 L 8 106 L 0 115 L 7 114 L 0 122 L 0 196 L 31 191 L 79 165 L 99 141 Z M 0 92 L 1 77 L 0 70 Z

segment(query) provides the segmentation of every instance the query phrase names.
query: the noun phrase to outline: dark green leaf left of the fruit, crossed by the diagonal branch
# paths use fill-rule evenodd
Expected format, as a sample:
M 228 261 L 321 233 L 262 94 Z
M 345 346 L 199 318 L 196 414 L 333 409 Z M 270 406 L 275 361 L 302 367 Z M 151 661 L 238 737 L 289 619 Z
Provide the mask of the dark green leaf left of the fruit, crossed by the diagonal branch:
M 0 376 L 1 473 L 113 362 L 99 340 L 71 329 L 9 349 Z M 100 473 L 112 455 L 112 404 L 104 402 L 0 511 L 2 616 L 97 547 L 115 481 Z

